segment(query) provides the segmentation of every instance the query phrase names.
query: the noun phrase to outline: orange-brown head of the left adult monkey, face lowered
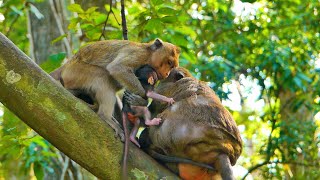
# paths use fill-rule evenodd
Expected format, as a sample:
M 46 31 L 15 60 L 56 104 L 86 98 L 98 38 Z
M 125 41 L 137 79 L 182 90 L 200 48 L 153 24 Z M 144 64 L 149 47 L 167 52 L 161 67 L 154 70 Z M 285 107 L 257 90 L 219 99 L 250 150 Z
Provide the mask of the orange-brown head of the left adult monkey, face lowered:
M 171 70 L 179 66 L 179 48 L 156 39 L 150 45 L 150 49 L 152 51 L 150 66 L 156 70 L 159 79 L 167 78 Z

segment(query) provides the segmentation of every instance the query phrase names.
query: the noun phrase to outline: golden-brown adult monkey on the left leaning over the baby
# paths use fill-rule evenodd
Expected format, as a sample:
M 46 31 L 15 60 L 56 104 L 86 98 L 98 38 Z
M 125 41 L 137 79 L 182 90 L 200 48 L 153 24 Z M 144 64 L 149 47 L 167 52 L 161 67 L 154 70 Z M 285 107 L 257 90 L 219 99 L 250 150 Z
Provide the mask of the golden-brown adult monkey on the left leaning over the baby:
M 98 115 L 123 139 L 118 122 L 112 120 L 116 92 L 125 88 L 145 96 L 135 69 L 148 64 L 164 79 L 179 65 L 179 53 L 176 46 L 159 39 L 150 43 L 99 41 L 81 48 L 51 76 L 74 94 L 90 95 L 98 103 Z

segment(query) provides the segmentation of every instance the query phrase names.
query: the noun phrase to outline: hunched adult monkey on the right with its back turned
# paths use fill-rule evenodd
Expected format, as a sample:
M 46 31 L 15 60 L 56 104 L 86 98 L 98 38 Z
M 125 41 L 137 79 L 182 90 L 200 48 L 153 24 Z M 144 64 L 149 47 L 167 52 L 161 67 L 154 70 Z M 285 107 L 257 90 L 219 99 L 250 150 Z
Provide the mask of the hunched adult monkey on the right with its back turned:
M 231 165 L 241 154 L 242 140 L 236 123 L 214 91 L 183 68 L 174 69 L 155 91 L 176 102 L 170 107 L 153 102 L 154 109 L 150 110 L 163 123 L 143 132 L 142 148 L 166 162 L 183 179 L 234 179 Z M 140 100 L 134 95 L 130 98 L 131 104 Z M 203 164 L 214 170 L 203 168 Z

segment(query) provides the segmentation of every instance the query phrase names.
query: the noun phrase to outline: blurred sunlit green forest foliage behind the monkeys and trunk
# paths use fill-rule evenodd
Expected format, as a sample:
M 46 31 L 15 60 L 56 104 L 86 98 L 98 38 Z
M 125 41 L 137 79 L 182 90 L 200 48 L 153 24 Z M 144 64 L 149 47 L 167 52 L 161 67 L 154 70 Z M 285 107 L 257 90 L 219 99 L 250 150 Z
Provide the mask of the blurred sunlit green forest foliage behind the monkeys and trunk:
M 320 179 L 319 0 L 125 8 L 129 40 L 181 47 L 180 66 L 232 113 L 244 141 L 238 179 Z M 0 32 L 50 72 L 86 43 L 122 39 L 120 0 L 0 0 Z M 0 104 L 0 179 L 96 178 Z

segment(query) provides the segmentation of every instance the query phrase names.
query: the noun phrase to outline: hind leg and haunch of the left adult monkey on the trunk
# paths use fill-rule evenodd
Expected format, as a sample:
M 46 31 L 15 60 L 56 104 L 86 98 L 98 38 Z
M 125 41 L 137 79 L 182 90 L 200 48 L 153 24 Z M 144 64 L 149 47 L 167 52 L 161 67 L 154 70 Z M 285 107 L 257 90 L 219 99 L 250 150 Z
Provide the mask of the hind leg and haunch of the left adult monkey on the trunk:
M 108 72 L 99 66 L 93 66 L 82 62 L 69 62 L 65 65 L 61 76 L 64 87 L 68 90 L 79 89 L 94 96 L 99 105 L 98 115 L 110 127 L 116 135 L 124 141 L 123 130 L 118 121 L 112 118 L 116 103 L 117 83 L 110 77 Z

